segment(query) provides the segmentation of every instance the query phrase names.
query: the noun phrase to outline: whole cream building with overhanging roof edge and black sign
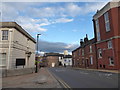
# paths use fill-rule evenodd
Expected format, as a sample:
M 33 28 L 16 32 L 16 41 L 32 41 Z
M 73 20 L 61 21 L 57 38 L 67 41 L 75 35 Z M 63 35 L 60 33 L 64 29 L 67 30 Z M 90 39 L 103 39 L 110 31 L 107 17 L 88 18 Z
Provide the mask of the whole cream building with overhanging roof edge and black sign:
M 0 25 L 0 68 L 34 68 L 35 39 L 16 22 Z

